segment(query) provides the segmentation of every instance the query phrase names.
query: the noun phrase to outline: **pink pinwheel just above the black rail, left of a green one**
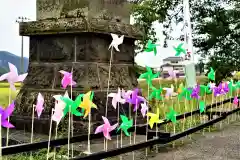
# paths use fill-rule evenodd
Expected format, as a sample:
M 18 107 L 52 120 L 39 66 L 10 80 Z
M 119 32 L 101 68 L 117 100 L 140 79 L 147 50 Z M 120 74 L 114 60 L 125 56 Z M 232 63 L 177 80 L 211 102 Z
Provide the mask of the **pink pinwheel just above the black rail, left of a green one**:
M 110 137 L 110 132 L 113 131 L 115 128 L 117 128 L 118 123 L 114 124 L 113 126 L 111 126 L 111 124 L 109 123 L 108 119 L 106 117 L 102 116 L 102 119 L 104 121 L 104 124 L 102 124 L 101 126 L 98 126 L 97 129 L 95 130 L 95 134 L 98 134 L 100 132 L 103 132 L 103 135 L 106 139 L 111 140 Z

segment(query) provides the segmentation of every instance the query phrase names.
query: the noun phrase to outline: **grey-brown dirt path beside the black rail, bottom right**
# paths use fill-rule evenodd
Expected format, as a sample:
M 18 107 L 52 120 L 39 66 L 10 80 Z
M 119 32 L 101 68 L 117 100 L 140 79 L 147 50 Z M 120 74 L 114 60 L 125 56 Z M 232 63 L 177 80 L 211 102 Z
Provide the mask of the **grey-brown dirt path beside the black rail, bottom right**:
M 161 149 L 159 149 L 161 150 Z M 240 122 L 225 124 L 221 131 L 194 136 L 189 144 L 162 149 L 149 160 L 239 160 Z

